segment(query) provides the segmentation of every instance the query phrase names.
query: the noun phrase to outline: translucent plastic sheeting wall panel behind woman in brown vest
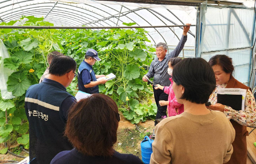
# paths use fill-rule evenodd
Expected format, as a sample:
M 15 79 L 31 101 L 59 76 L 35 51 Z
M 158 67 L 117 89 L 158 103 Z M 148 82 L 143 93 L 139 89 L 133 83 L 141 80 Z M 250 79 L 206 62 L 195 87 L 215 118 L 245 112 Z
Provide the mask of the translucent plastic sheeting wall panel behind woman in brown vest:
M 214 7 L 202 5 L 198 57 L 209 61 L 217 54 L 233 59 L 234 77 L 249 85 L 251 50 L 254 38 L 254 9 L 242 5 Z M 201 40 L 201 41 L 200 41 Z

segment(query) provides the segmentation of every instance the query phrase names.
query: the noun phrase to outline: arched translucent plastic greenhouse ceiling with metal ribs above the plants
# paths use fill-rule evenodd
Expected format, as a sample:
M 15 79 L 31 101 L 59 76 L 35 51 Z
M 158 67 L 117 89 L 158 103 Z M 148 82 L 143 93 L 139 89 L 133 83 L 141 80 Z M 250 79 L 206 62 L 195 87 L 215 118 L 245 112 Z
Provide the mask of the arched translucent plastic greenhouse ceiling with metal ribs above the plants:
M 235 0 L 234 0 L 235 1 Z M 241 0 L 245 2 L 244 0 Z M 214 1 L 211 4 L 242 4 L 241 1 Z M 137 3 L 133 3 L 137 2 Z M 140 3 L 138 3 L 140 2 Z M 21 16 L 43 17 L 54 26 L 123 26 L 135 22 L 137 26 L 164 26 L 196 24 L 197 6 L 202 0 L 0 0 L 0 22 L 18 20 Z M 248 1 L 247 1 L 248 2 Z M 152 45 L 166 42 L 175 46 L 182 27 L 147 28 Z M 186 46 L 195 46 L 195 27 L 190 28 Z

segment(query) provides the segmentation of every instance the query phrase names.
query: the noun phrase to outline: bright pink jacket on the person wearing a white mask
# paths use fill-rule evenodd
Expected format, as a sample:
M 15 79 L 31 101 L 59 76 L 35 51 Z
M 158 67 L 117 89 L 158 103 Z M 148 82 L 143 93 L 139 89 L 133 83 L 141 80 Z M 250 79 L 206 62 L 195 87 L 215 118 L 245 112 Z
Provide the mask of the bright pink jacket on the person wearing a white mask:
M 184 105 L 177 102 L 173 91 L 173 79 L 169 78 L 171 84 L 169 87 L 164 87 L 164 93 L 168 94 L 169 105 L 167 106 L 168 116 L 176 116 L 184 112 Z

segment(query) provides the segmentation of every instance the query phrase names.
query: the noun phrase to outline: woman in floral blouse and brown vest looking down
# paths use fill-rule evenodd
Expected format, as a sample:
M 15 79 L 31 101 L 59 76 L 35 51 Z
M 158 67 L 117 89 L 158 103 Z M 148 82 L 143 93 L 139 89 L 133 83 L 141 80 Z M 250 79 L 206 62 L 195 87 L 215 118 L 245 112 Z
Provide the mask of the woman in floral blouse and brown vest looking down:
M 209 101 L 213 104 L 209 106 L 209 109 L 224 112 L 236 131 L 235 141 L 232 143 L 234 152 L 228 164 L 244 164 L 247 158 L 246 136 L 248 136 L 248 131 L 246 130 L 246 126 L 256 127 L 255 98 L 249 87 L 237 81 L 232 76 L 234 66 L 230 57 L 226 55 L 215 55 L 211 57 L 209 64 L 214 70 L 217 84 L 215 90 L 209 97 Z M 217 103 L 218 88 L 246 89 L 244 111 L 242 109 L 237 111 L 227 105 Z

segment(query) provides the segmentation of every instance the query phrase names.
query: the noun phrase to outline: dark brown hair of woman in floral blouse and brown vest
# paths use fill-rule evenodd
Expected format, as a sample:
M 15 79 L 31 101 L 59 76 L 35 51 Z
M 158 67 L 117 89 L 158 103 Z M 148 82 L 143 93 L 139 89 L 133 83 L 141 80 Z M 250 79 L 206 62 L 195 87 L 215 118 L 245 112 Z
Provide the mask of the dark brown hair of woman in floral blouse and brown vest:
M 211 57 L 208 63 L 211 67 L 214 65 L 219 65 L 222 67 L 225 73 L 230 73 L 230 75 L 233 74 L 234 66 L 232 64 L 232 58 L 228 57 L 227 55 L 215 55 Z

